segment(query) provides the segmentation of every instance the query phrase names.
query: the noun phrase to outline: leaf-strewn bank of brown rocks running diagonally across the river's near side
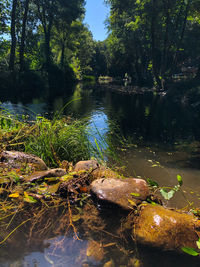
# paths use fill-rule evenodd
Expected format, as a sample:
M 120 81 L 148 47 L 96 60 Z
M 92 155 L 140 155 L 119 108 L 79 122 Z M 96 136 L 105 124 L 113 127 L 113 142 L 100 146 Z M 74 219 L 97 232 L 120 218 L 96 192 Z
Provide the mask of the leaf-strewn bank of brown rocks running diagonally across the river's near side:
M 164 207 L 145 180 L 125 178 L 95 160 L 75 166 L 64 161 L 60 168 L 49 169 L 34 155 L 2 151 L 0 183 L 1 198 L 18 205 L 38 206 L 52 198 L 76 205 L 84 194 L 107 214 L 122 212 L 134 243 L 178 253 L 188 249 L 198 255 L 197 217 Z

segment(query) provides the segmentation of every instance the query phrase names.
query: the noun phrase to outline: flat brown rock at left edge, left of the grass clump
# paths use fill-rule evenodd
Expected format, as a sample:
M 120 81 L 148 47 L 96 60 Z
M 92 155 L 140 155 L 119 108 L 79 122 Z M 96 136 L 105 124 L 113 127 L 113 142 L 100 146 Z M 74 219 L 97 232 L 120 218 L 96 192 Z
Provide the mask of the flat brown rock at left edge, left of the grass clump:
M 3 151 L 0 154 L 0 162 L 7 163 L 12 168 L 20 168 L 22 164 L 30 163 L 34 166 L 35 170 L 47 170 L 47 166 L 42 159 L 24 152 Z

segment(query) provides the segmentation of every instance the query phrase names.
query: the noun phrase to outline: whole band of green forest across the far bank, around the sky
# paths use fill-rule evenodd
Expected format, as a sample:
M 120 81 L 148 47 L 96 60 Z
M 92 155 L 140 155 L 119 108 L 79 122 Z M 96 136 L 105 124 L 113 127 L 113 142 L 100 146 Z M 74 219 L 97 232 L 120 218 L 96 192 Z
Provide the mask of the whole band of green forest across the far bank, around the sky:
M 106 0 L 108 37 L 96 41 L 84 24 L 85 1 L 0 3 L 2 88 L 54 87 L 93 77 L 156 85 L 200 77 L 199 0 Z

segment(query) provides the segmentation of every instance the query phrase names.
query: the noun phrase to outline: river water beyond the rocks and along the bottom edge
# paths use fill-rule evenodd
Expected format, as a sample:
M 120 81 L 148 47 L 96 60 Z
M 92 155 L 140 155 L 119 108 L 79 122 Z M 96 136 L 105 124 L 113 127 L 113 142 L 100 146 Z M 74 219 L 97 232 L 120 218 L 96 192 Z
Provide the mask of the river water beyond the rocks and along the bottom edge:
M 33 94 L 27 91 L 12 96 L 7 94 L 0 100 L 2 101 L 1 107 L 14 114 L 28 115 L 29 119 L 34 119 L 36 114 L 51 117 L 52 114 L 59 113 L 66 103 L 69 103 L 62 110 L 63 115 L 85 118 L 90 125 L 92 135 L 97 140 L 99 133 L 103 138 L 109 135 L 111 141 L 113 138 L 113 143 L 117 145 L 123 174 L 130 177 L 150 178 L 159 186 L 171 187 L 177 184 L 177 175 L 181 175 L 182 192 L 176 193 L 175 197 L 170 201 L 165 201 L 165 204 L 170 207 L 183 208 L 188 203 L 193 203 L 195 207 L 198 207 L 200 204 L 200 112 L 198 106 L 191 103 L 190 99 L 178 99 L 165 93 L 143 92 L 142 90 L 130 93 L 127 88 L 115 89 L 116 87 L 111 86 L 78 84 L 51 96 L 44 92 L 40 97 L 33 97 Z M 128 140 L 128 145 L 116 143 L 115 134 L 119 133 Z M 93 142 L 92 139 L 91 142 Z M 113 161 L 112 158 L 107 158 L 108 165 L 111 166 Z M 20 244 L 18 242 L 14 244 L 13 240 L 14 245 L 6 244 L 10 251 L 9 258 L 3 255 L 5 247 L 2 253 L 0 252 L 3 255 L 0 256 L 0 266 L 103 266 L 98 261 L 83 263 L 82 254 L 88 246 L 88 237 L 82 235 L 82 241 L 74 241 L 73 233 L 69 232 L 68 236 L 63 239 L 61 247 L 55 246 L 56 242 L 60 244 L 62 241 L 63 235 L 61 234 L 57 236 L 54 234 L 51 237 L 42 236 L 35 246 L 22 242 L 26 245 L 18 249 L 16 246 Z M 90 238 L 96 240 L 94 236 L 91 236 Z M 23 236 L 23 238 L 27 237 Z M 110 248 L 105 257 L 108 262 L 111 260 L 114 264 L 110 266 L 136 266 L 134 265 L 136 256 L 133 256 L 135 254 L 130 251 L 129 244 L 124 244 L 123 247 L 120 243 L 122 241 L 118 244 L 115 238 L 112 240 L 109 236 L 106 242 L 107 248 L 109 244 Z M 112 243 L 115 244 L 115 249 L 112 248 Z M 125 247 L 130 253 L 123 253 Z M 12 252 L 13 248 L 18 253 Z M 145 267 L 161 266 L 161 262 L 162 266 L 167 267 L 199 266 L 199 262 L 187 256 L 177 257 L 173 254 L 140 247 L 137 250 L 139 251 L 136 253 L 137 258 L 141 259 L 141 264 Z M 124 259 L 122 260 L 121 257 Z

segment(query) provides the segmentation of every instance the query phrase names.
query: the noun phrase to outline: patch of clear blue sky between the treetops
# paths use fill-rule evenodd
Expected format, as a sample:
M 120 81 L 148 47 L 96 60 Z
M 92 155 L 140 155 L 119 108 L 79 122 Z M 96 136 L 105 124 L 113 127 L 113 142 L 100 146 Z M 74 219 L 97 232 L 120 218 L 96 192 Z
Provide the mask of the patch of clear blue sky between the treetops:
M 109 15 L 109 7 L 103 0 L 86 0 L 86 14 L 84 22 L 89 25 L 93 37 L 97 41 L 103 41 L 107 37 L 104 21 Z

